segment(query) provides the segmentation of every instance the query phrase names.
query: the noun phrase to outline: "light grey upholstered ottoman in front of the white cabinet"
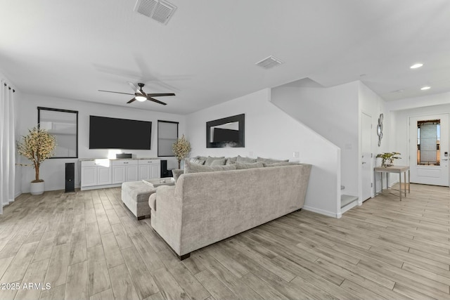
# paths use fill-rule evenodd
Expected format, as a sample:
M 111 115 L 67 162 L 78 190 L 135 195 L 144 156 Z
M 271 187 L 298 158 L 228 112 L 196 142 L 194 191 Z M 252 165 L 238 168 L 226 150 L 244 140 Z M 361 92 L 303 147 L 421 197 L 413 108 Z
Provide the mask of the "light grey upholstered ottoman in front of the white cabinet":
M 148 197 L 155 192 L 155 188 L 142 181 L 124 182 L 122 183 L 122 202 L 138 220 L 142 220 L 150 216 Z

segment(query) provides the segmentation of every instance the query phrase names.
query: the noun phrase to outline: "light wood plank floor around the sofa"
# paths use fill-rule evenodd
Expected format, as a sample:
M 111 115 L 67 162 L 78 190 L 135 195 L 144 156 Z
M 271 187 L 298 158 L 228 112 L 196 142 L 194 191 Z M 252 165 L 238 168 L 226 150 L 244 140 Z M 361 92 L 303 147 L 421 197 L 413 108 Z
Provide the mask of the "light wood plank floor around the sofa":
M 24 194 L 0 216 L 0 288 L 20 287 L 0 299 L 450 299 L 449 196 L 295 212 L 179 261 L 120 188 Z

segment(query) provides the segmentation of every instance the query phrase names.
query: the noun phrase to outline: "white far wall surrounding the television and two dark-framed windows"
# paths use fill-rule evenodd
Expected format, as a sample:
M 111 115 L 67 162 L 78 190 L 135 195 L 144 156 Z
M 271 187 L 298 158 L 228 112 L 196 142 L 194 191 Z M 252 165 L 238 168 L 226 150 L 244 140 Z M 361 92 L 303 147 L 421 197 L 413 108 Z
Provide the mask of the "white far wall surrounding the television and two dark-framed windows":
M 20 135 L 25 135 L 27 130 L 37 126 L 37 107 L 52 107 L 63 110 L 77 110 L 78 113 L 78 157 L 79 158 L 105 158 L 108 157 L 108 150 L 89 150 L 89 115 L 102 117 L 117 117 L 122 119 L 139 119 L 151 121 L 152 140 L 151 150 L 123 150 L 132 153 L 134 157 L 157 157 L 158 156 L 158 119 L 165 121 L 179 122 L 179 136 L 186 131 L 186 117 L 172 115 L 162 112 L 151 112 L 148 110 L 137 110 L 129 107 L 113 105 L 103 105 L 89 103 L 85 101 L 70 100 L 64 98 L 53 98 L 49 96 L 36 96 L 23 94 L 20 101 Z M 133 134 L 133 133 L 131 133 Z M 134 133 L 136 138 L 139 134 Z M 117 151 L 117 150 L 114 150 Z M 122 152 L 122 151 L 119 151 Z M 23 163 L 29 162 L 25 157 L 20 157 Z M 164 157 L 167 159 L 169 169 L 177 167 L 174 157 Z M 65 163 L 75 162 L 75 187 L 79 187 L 79 164 L 78 159 L 47 159 L 40 169 L 41 178 L 46 183 L 46 190 L 61 190 L 65 188 Z M 27 193 L 30 190 L 30 181 L 34 179 L 34 169 L 32 167 L 22 167 L 22 191 Z

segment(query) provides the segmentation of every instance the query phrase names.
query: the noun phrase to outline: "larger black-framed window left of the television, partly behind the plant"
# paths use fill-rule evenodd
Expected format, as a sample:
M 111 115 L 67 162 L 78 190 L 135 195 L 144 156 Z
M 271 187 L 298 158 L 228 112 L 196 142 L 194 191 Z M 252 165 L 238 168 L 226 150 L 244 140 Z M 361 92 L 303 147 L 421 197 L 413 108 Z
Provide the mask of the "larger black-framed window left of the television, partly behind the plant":
M 37 107 L 37 124 L 56 137 L 56 149 L 50 158 L 78 158 L 78 112 Z

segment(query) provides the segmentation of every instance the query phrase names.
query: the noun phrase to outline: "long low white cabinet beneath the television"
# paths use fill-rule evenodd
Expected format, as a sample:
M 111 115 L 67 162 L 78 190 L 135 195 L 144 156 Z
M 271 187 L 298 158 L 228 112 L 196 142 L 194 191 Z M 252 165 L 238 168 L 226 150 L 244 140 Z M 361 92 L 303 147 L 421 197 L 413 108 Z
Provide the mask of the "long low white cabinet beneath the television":
M 160 178 L 161 159 L 79 159 L 81 190 L 113 188 L 127 181 Z

